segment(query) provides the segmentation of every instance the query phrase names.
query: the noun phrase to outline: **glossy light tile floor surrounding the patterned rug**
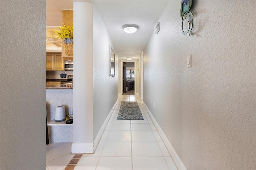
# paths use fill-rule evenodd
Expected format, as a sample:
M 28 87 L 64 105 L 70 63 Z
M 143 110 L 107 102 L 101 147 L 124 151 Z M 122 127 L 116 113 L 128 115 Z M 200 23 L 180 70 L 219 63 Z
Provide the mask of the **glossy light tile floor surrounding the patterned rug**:
M 83 154 L 74 170 L 177 170 L 142 101 L 118 99 L 95 153 Z M 137 101 L 144 120 L 117 120 L 121 101 Z M 73 156 L 71 143 L 47 145 L 46 170 L 64 170 Z

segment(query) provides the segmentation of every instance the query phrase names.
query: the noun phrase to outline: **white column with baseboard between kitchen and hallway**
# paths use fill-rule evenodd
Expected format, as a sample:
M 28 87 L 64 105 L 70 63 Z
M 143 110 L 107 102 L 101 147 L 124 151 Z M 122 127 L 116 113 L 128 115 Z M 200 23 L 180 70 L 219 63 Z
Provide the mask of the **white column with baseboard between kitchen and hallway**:
M 72 153 L 93 153 L 92 2 L 74 2 L 74 90 Z

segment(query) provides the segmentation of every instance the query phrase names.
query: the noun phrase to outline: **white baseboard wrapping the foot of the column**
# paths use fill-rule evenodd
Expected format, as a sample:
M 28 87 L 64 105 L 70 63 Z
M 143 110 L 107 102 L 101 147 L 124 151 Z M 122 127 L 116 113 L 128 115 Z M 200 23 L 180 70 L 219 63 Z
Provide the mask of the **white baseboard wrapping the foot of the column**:
M 72 154 L 92 154 L 94 152 L 93 143 L 72 143 Z

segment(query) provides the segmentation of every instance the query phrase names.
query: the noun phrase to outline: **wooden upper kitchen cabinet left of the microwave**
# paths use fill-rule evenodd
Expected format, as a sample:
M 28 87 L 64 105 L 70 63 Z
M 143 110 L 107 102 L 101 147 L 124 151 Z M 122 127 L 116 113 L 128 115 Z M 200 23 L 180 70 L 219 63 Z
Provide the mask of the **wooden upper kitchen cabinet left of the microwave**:
M 61 53 L 46 53 L 46 71 L 64 71 L 64 58 Z

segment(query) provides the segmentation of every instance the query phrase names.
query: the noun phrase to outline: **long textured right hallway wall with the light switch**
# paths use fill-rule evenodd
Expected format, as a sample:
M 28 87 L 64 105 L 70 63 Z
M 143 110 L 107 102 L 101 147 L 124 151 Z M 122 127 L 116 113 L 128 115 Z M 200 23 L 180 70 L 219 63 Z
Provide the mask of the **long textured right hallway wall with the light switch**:
M 193 1 L 190 37 L 180 3 L 144 50 L 144 102 L 187 169 L 256 169 L 256 2 Z

